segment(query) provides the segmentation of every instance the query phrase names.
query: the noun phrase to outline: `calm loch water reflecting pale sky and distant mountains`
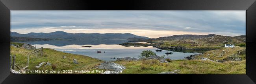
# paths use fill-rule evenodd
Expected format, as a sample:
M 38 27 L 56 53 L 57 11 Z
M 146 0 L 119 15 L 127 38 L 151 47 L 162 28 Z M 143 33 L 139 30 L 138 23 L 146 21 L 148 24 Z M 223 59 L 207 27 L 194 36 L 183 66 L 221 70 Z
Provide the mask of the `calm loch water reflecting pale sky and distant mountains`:
M 189 52 L 179 52 L 170 51 L 162 49 L 161 52 L 156 52 L 156 47 L 134 47 L 134 46 L 121 46 L 124 42 L 128 40 L 50 40 L 50 41 L 34 41 L 34 42 L 21 42 L 31 44 L 32 46 L 52 48 L 57 51 L 65 51 L 66 53 L 73 53 L 79 55 L 86 55 L 93 58 L 98 58 L 101 60 L 116 60 L 110 58 L 121 58 L 121 57 L 135 57 L 142 53 L 144 50 L 151 50 L 155 52 L 158 56 L 165 55 L 165 58 L 170 58 L 173 60 L 185 59 L 184 57 L 199 54 L 197 51 Z M 92 46 L 92 47 L 82 47 L 82 46 Z M 102 51 L 102 53 L 96 53 L 96 51 Z M 105 51 L 105 53 L 104 53 Z M 173 52 L 171 55 L 166 55 L 166 52 Z

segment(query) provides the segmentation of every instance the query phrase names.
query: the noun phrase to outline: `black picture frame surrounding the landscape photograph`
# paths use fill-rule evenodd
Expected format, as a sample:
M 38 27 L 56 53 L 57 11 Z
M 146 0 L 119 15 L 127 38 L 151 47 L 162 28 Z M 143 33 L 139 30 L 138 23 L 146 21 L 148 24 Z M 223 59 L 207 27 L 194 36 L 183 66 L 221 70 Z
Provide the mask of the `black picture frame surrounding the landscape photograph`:
M 12 75 L 9 73 L 10 10 L 246 10 L 245 75 Z M 189 82 L 195 84 L 255 84 L 256 82 L 255 0 L 0 0 L 0 82 L 52 83 L 50 80 L 114 82 Z M 124 78 L 126 77 L 126 78 Z M 103 78 L 107 79 L 105 81 Z M 147 80 L 142 80 L 146 78 Z M 99 80 L 100 79 L 100 80 Z M 110 80 L 111 79 L 111 80 Z M 158 80 L 152 80 L 158 79 Z M 181 79 L 181 80 L 180 80 Z M 63 81 L 65 80 L 65 81 Z M 132 82 L 132 81 L 130 81 Z

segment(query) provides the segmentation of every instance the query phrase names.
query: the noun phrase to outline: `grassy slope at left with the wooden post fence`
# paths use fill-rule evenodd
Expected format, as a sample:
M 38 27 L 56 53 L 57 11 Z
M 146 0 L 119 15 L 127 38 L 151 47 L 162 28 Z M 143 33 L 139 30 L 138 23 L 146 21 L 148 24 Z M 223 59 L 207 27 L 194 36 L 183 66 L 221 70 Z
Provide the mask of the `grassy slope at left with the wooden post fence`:
M 26 50 L 21 48 L 16 48 L 10 46 L 11 48 L 11 55 L 16 55 L 16 64 L 19 67 L 25 67 L 27 64 L 27 54 L 30 53 L 32 50 Z M 41 68 L 36 68 L 41 62 L 50 62 L 51 64 L 56 64 L 56 70 L 89 70 L 96 65 L 100 64 L 102 61 L 96 58 L 83 56 L 83 55 L 76 55 L 71 53 L 64 53 L 61 51 L 56 51 L 54 49 L 43 49 L 43 57 L 38 55 L 30 55 L 29 67 L 30 70 L 52 70 L 52 66 L 44 66 Z M 63 58 L 65 56 L 66 58 Z M 73 59 L 77 59 L 79 64 L 74 64 Z M 18 70 L 15 68 L 15 70 Z M 46 74 L 46 73 L 42 73 Z M 79 73 L 77 73 L 79 74 Z

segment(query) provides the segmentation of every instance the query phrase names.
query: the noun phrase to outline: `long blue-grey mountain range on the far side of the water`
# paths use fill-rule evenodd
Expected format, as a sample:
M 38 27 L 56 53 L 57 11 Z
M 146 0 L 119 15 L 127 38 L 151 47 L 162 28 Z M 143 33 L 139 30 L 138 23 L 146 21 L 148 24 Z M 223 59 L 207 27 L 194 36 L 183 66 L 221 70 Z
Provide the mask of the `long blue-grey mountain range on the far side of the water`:
M 19 34 L 11 32 L 11 37 L 27 37 L 27 38 L 50 38 L 50 39 L 67 39 L 67 40 L 111 40 L 111 39 L 128 39 L 128 38 L 146 38 L 131 33 L 66 33 L 56 31 L 52 33 L 28 33 Z

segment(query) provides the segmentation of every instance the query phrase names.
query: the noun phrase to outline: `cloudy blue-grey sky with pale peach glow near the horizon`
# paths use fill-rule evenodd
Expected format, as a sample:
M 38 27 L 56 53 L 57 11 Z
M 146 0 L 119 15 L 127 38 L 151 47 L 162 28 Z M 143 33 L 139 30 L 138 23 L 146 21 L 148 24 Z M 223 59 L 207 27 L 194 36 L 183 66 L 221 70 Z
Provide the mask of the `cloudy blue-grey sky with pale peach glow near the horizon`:
M 132 33 L 149 38 L 172 35 L 245 35 L 245 10 L 22 11 L 11 10 L 17 33 Z

